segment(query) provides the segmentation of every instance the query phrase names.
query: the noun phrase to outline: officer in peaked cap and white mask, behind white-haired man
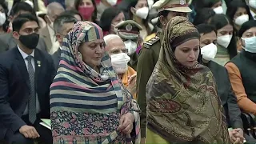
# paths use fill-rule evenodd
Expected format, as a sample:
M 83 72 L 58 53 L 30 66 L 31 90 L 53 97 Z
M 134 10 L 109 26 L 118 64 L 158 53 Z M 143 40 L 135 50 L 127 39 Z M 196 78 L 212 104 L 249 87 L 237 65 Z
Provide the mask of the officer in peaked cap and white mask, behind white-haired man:
M 130 56 L 128 66 L 137 70 L 138 54 L 136 53 L 136 50 L 140 43 L 139 31 L 142 30 L 142 26 L 133 20 L 127 20 L 118 23 L 115 27 L 118 29 L 117 34 L 122 38 L 122 41 L 125 43 L 126 49 L 128 50 L 128 55 Z

